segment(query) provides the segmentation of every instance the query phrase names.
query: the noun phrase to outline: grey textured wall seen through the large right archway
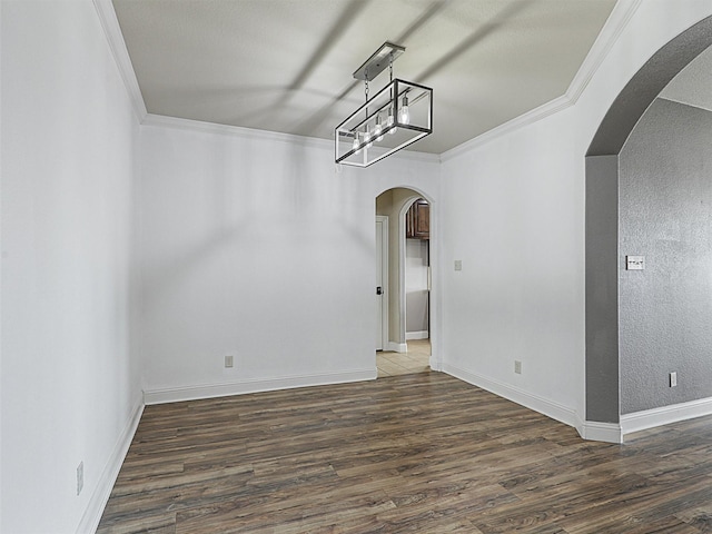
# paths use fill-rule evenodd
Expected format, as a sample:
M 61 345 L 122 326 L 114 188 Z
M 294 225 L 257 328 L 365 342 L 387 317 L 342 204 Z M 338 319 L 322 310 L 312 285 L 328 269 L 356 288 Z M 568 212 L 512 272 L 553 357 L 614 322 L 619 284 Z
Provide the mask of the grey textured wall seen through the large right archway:
M 710 146 L 712 113 L 659 99 L 620 156 L 622 414 L 712 396 Z

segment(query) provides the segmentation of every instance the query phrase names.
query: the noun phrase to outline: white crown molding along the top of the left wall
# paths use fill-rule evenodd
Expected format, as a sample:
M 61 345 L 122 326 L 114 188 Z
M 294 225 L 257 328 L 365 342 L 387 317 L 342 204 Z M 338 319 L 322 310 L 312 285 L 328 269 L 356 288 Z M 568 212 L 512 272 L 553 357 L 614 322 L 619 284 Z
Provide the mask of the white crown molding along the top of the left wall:
M 113 56 L 113 60 L 119 68 L 119 73 L 121 75 L 126 90 L 131 99 L 134 111 L 136 111 L 138 120 L 141 122 L 148 115 L 148 111 L 146 109 L 146 102 L 144 102 L 141 89 L 138 85 L 138 79 L 136 78 L 136 72 L 134 71 L 134 65 L 131 63 L 129 51 L 126 48 L 126 41 L 123 40 L 123 33 L 121 33 L 121 27 L 119 26 L 119 19 L 116 17 L 113 4 L 111 3 L 111 0 L 93 0 L 93 6 L 97 10 L 101 28 L 103 28 L 103 33 L 109 43 L 111 56 Z

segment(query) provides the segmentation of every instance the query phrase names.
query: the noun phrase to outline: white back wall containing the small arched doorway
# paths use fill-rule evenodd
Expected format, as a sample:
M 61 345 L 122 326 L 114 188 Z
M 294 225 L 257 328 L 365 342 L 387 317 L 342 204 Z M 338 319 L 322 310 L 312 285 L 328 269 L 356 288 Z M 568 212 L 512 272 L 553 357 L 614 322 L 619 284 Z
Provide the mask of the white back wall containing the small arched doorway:
M 437 198 L 438 160 L 337 174 L 328 141 L 199 127 L 141 132 L 147 402 L 374 378 L 375 199 Z

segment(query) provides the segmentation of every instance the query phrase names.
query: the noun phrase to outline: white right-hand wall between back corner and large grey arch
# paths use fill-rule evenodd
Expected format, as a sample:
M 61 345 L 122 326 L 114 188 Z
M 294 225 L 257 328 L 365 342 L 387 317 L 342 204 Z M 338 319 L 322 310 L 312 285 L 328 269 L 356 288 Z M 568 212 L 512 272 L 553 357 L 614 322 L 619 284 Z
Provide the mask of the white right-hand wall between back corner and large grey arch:
M 641 2 L 573 107 L 443 155 L 446 370 L 581 425 L 584 155 L 635 71 L 710 13 L 710 1 Z

